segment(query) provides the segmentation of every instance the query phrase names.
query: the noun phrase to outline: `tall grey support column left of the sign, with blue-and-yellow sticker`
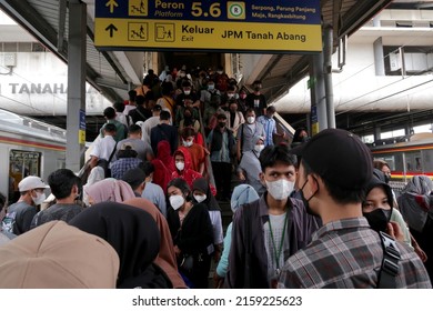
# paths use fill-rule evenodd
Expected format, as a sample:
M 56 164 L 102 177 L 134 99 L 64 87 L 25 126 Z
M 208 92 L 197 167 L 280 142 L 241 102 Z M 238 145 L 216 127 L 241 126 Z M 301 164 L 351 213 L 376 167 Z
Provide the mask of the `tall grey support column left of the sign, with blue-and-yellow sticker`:
M 69 1 L 67 168 L 78 172 L 85 151 L 85 4 Z

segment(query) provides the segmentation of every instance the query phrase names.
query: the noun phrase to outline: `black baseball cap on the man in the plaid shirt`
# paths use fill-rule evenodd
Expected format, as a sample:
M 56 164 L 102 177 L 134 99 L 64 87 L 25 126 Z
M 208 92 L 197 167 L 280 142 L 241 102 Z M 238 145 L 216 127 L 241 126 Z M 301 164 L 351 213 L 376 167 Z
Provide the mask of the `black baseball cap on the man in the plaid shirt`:
M 370 149 L 345 130 L 323 130 L 291 153 L 300 156 L 321 178 L 343 189 L 362 189 L 373 174 Z

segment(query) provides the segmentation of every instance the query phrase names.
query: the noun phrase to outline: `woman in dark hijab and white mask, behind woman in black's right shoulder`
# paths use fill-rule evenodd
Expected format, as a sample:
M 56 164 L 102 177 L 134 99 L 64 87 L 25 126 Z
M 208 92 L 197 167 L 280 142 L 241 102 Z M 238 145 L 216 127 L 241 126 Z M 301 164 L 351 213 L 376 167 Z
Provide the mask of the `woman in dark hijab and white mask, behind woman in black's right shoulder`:
M 215 197 L 212 194 L 209 182 L 204 178 L 195 179 L 192 182 L 192 195 L 194 198 L 194 203 L 204 204 L 209 211 L 213 229 L 213 258 L 215 262 L 219 262 L 223 242 L 220 205 L 218 204 Z

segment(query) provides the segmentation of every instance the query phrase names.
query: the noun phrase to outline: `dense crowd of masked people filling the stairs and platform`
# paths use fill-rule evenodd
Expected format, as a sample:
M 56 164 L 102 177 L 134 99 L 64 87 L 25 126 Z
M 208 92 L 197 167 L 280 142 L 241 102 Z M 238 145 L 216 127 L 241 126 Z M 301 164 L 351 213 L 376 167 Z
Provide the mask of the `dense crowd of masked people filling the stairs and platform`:
M 358 137 L 289 140 L 252 87 L 222 67 L 149 70 L 103 111 L 82 177 L 20 181 L 0 214 L 0 288 L 203 289 L 212 262 L 215 288 L 431 288 L 433 182 L 396 198 Z

